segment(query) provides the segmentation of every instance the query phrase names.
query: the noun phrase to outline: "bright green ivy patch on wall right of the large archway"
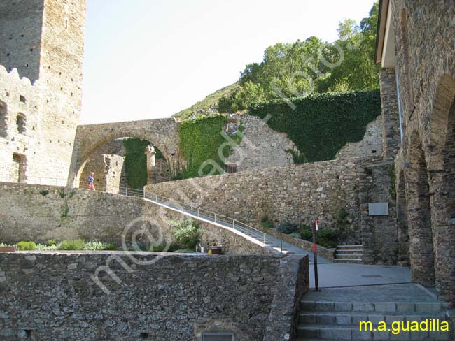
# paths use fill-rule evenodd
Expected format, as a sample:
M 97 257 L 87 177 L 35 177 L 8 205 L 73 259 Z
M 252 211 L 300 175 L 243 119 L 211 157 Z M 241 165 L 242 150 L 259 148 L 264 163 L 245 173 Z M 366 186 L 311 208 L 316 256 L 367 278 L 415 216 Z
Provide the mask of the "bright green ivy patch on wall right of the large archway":
M 188 163 L 179 176 L 181 179 L 224 172 L 225 164 L 218 155 L 218 149 L 223 143 L 228 142 L 221 134 L 225 122 L 226 116 L 217 115 L 190 119 L 181 123 L 179 128 L 180 152 Z M 235 140 L 235 143 L 238 142 Z M 231 153 L 232 147 L 223 148 L 224 157 L 228 157 Z M 200 174 L 201 166 L 209 160 L 212 163 L 202 168 Z M 214 163 L 218 166 L 215 167 Z

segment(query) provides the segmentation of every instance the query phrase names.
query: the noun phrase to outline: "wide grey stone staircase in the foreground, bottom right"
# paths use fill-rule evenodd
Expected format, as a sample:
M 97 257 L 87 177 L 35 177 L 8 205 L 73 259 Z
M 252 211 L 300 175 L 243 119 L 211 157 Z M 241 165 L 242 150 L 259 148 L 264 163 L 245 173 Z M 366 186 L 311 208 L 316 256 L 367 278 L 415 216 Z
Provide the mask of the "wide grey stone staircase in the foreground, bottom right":
M 393 334 L 392 322 L 446 320 L 448 305 L 441 302 L 300 302 L 297 335 L 303 340 L 451 340 L 443 331 L 402 331 Z M 372 331 L 359 331 L 360 321 L 371 321 Z M 374 331 L 385 321 L 390 331 Z

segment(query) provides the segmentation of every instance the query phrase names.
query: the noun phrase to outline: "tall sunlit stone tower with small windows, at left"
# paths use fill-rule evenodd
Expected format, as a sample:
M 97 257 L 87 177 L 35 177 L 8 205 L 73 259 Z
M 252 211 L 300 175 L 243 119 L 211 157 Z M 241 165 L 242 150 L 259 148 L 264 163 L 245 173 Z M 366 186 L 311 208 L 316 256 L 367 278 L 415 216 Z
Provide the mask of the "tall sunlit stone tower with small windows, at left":
M 85 0 L 0 2 L 0 181 L 67 178 L 80 121 L 84 32 Z

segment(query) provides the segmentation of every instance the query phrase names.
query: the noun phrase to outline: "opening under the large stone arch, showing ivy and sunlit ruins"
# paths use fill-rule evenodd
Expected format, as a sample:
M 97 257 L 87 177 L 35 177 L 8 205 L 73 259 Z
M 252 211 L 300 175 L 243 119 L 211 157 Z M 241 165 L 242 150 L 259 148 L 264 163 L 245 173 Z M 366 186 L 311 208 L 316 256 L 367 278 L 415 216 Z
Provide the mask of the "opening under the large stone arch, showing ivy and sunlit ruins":
M 118 138 L 101 145 L 84 161 L 78 171 L 78 187 L 87 188 L 87 178 L 94 172 L 97 191 L 119 193 L 141 189 L 145 184 L 172 180 L 165 157 L 155 146 L 155 163 L 144 154 L 148 140 Z

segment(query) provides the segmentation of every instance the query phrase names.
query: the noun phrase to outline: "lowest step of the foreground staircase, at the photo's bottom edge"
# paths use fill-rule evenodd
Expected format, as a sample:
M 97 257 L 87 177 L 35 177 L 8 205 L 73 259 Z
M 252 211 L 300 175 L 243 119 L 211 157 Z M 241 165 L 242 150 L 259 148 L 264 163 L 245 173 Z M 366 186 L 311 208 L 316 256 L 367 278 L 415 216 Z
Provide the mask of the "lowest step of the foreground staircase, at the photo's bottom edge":
M 297 326 L 297 335 L 301 340 L 451 340 L 450 334 L 442 331 L 403 331 L 394 335 L 392 331 L 360 331 L 349 326 Z

